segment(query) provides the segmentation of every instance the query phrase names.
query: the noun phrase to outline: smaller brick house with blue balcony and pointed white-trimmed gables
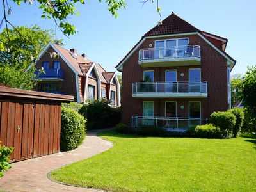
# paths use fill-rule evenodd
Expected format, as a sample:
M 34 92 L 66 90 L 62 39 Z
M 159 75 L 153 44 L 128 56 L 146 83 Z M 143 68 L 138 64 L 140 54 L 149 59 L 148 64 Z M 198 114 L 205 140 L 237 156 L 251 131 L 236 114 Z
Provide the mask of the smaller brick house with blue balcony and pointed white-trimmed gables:
M 108 99 L 112 106 L 120 106 L 120 85 L 116 72 L 106 72 L 99 63 L 80 56 L 76 49 L 64 49 L 49 42 L 35 63 L 44 67 L 39 74 L 40 82 L 34 90 L 73 95 L 76 102 Z M 35 72 L 38 74 L 38 71 Z

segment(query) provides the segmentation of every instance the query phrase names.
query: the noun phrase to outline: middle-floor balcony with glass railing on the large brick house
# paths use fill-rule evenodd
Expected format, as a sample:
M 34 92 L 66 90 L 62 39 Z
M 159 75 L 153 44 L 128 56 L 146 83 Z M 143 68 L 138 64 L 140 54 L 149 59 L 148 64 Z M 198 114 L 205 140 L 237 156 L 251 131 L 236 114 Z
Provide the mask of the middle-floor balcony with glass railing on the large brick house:
M 205 98 L 207 97 L 207 82 L 144 82 L 132 84 L 132 97 L 189 97 Z

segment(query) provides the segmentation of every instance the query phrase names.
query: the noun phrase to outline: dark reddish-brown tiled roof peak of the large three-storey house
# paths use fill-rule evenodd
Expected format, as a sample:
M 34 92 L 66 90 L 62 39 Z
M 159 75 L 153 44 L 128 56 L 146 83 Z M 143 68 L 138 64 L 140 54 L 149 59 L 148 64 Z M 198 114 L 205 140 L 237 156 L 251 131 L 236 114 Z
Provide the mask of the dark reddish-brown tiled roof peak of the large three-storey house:
M 154 35 L 166 35 L 166 34 L 176 34 L 176 33 L 191 33 L 198 32 L 199 29 L 195 28 L 186 20 L 181 19 L 172 12 L 172 15 L 166 17 L 161 25 L 157 25 L 150 29 L 144 36 L 154 36 Z

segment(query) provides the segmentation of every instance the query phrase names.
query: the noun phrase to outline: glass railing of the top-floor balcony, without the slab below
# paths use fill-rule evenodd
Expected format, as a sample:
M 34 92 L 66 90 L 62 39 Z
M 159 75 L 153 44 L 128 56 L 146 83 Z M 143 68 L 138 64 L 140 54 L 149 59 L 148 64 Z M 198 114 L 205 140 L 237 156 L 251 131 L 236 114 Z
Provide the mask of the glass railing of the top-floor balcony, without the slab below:
M 139 61 L 157 61 L 172 58 L 200 58 L 200 46 L 186 45 L 180 47 L 141 49 L 139 51 Z

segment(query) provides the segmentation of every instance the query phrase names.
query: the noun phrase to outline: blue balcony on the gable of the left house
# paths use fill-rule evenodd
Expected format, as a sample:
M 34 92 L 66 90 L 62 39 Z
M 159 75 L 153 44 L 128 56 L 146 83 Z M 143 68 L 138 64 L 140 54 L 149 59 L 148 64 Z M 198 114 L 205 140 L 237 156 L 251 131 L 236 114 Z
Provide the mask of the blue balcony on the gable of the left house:
M 36 70 L 34 72 L 34 74 L 37 76 L 35 79 L 42 81 L 63 81 L 64 79 L 64 72 L 60 68 L 45 69 L 44 72 L 45 74 Z

